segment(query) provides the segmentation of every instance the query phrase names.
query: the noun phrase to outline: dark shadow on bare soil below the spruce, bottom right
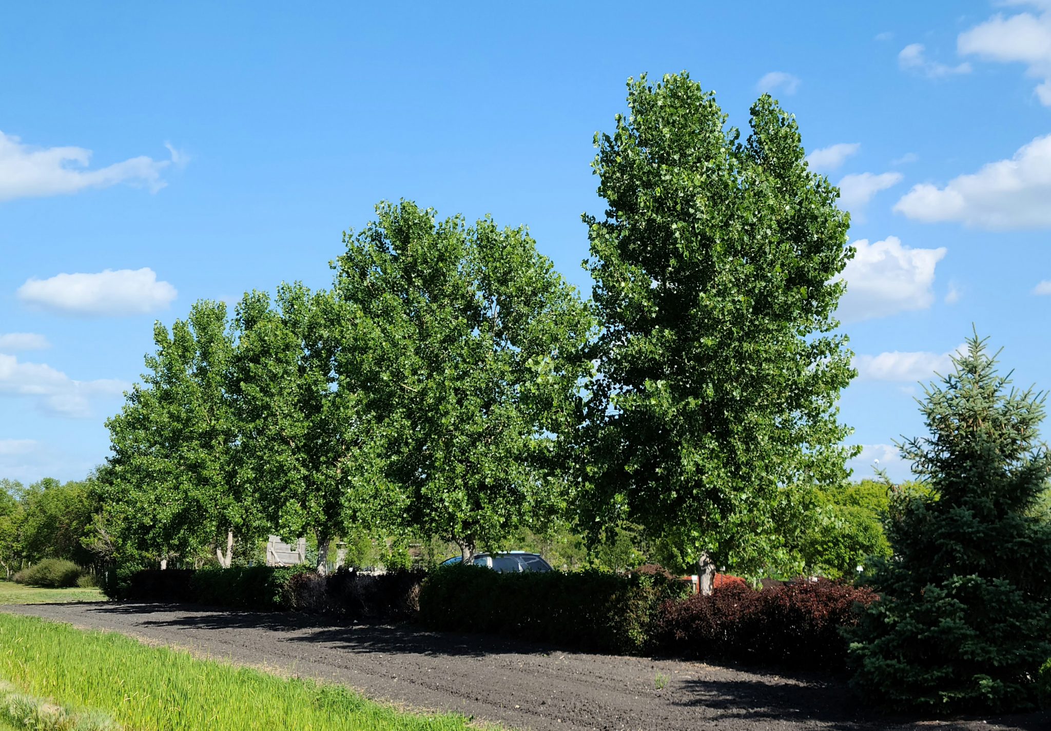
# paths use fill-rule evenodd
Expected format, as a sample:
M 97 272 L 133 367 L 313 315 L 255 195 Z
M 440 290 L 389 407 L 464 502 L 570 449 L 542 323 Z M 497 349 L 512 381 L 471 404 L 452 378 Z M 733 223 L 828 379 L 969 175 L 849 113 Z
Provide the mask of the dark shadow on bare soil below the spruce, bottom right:
M 716 720 L 778 720 L 818 724 L 834 731 L 871 731 L 873 729 L 915 729 L 932 727 L 940 731 L 974 731 L 1006 727 L 1018 731 L 1046 731 L 1051 714 L 1027 713 L 996 717 L 944 718 L 932 720 L 916 716 L 886 714 L 862 706 L 843 683 L 800 683 L 790 676 L 768 676 L 756 681 L 684 681 L 682 689 L 689 697 L 680 706 L 703 706 L 721 711 Z

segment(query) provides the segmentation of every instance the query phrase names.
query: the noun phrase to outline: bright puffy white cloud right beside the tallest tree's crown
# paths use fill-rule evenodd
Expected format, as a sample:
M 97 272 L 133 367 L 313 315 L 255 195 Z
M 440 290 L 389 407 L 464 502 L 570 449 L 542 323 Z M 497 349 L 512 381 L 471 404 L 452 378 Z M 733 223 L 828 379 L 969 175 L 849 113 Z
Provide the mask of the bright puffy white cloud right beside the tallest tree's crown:
M 924 310 L 934 301 L 934 267 L 946 249 L 910 249 L 897 236 L 853 242 L 854 257 L 843 270 L 847 292 L 838 316 L 845 322 Z

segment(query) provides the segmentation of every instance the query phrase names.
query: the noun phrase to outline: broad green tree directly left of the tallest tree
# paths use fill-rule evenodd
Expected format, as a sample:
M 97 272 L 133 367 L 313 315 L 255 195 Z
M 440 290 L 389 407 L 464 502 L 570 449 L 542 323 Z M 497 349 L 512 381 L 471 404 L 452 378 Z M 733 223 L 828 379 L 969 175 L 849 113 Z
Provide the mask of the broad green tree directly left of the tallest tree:
M 593 318 L 523 228 L 384 204 L 347 235 L 341 388 L 358 393 L 355 503 L 465 560 L 564 510 Z

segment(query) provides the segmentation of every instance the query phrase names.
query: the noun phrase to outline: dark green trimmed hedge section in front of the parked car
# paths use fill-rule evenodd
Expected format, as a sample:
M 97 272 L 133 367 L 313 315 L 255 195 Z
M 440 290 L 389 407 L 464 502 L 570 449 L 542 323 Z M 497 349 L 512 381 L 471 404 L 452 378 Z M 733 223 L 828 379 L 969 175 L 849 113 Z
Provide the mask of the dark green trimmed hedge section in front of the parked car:
M 491 632 L 586 650 L 638 653 L 663 602 L 688 587 L 660 572 L 498 573 L 442 566 L 424 581 L 419 618 L 439 630 Z

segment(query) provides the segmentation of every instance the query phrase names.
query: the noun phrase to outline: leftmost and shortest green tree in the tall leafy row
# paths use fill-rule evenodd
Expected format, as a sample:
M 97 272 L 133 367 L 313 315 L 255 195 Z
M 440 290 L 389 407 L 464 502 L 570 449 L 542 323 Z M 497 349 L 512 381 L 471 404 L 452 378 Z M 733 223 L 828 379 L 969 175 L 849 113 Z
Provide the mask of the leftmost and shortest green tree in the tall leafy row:
M 107 518 L 131 549 L 156 557 L 250 538 L 259 528 L 252 494 L 238 480 L 226 306 L 199 301 L 170 333 L 158 322 L 153 340 L 142 383 L 106 422 L 114 454 L 98 489 Z

